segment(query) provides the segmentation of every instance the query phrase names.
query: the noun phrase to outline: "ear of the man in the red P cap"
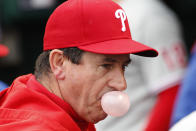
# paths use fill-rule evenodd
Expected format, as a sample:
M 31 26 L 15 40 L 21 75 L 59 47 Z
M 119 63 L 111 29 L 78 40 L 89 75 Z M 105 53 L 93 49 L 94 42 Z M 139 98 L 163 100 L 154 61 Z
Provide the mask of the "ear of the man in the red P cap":
M 63 71 L 64 60 L 65 57 L 63 55 L 63 51 L 54 49 L 50 52 L 49 62 L 51 71 L 58 80 L 65 79 L 65 71 Z

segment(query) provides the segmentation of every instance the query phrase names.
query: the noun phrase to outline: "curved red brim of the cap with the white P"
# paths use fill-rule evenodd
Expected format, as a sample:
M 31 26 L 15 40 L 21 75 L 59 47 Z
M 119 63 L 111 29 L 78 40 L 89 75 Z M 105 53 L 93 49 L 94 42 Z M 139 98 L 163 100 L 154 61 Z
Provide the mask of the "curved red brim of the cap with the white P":
M 79 49 L 98 54 L 135 54 L 146 57 L 158 56 L 155 49 L 131 39 L 109 40 L 78 46 Z

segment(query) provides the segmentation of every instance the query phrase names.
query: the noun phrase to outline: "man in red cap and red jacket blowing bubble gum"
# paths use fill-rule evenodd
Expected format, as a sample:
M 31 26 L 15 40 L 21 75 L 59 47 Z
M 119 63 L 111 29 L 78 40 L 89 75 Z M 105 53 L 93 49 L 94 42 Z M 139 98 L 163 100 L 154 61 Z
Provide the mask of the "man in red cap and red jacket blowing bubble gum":
M 69 0 L 50 16 L 35 74 L 0 94 L 0 130 L 94 131 L 107 114 L 101 97 L 126 89 L 129 54 L 157 56 L 131 39 L 123 9 L 110 0 Z

